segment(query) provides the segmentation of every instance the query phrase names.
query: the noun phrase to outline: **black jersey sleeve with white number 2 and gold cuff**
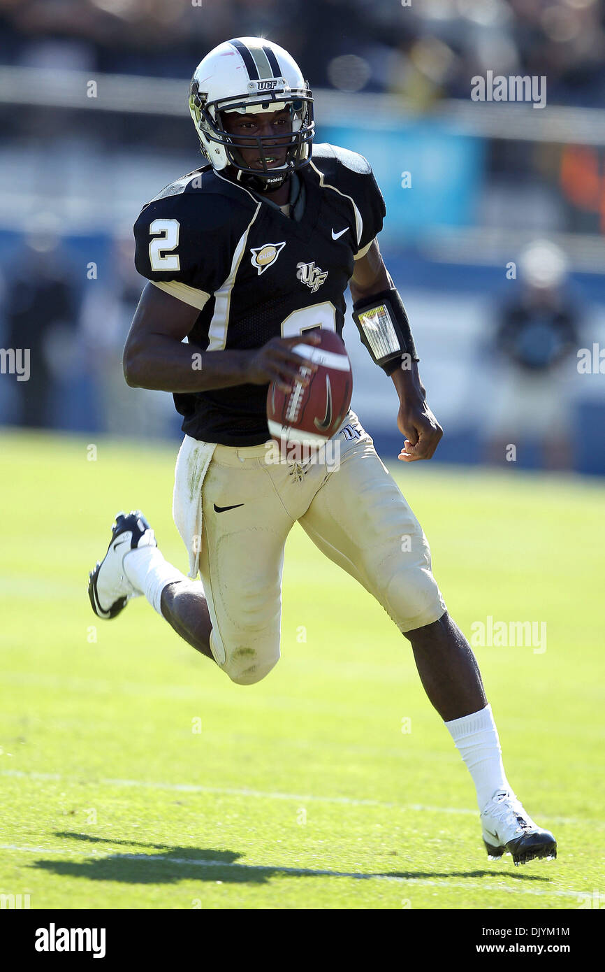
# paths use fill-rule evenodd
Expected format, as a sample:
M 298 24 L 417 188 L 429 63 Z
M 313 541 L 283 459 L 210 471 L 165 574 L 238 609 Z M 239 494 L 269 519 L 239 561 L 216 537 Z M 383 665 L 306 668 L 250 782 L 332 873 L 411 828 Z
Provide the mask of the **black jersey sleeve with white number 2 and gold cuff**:
M 134 225 L 135 265 L 161 290 L 201 309 L 229 274 L 230 235 L 220 203 L 190 193 L 153 200 Z

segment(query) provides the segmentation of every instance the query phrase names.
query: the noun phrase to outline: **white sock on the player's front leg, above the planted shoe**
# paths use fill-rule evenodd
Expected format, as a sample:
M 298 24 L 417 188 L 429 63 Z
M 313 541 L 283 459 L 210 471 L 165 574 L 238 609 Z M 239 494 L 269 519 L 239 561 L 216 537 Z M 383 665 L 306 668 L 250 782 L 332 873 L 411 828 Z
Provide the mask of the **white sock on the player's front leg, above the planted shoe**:
M 480 811 L 496 790 L 513 792 L 502 765 L 502 749 L 491 706 L 452 719 L 446 722 L 446 727 L 473 778 Z

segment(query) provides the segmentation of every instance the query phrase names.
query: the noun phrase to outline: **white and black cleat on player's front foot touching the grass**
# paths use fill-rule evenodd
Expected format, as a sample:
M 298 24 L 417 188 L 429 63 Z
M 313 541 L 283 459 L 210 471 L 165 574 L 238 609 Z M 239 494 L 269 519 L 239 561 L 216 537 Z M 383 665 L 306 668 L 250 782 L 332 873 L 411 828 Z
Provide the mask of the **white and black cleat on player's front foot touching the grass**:
M 484 844 L 489 860 L 513 854 L 516 865 L 534 857 L 556 857 L 556 841 L 525 813 L 521 802 L 508 790 L 496 790 L 481 815 Z

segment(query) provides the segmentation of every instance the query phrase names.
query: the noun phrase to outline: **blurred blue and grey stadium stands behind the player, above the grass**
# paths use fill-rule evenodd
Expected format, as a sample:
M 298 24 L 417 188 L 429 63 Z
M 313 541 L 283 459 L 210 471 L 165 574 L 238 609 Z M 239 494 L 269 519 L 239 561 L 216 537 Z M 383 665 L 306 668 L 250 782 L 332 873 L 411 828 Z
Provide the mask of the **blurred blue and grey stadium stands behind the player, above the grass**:
M 0 0 L 0 346 L 31 349 L 0 424 L 179 440 L 171 398 L 121 377 L 131 227 L 201 163 L 198 61 L 262 34 L 309 79 L 317 141 L 385 194 L 436 461 L 514 443 L 518 467 L 605 474 L 605 382 L 578 367 L 605 347 L 604 26 L 595 0 Z M 473 101 L 487 70 L 546 76 L 546 107 Z M 394 458 L 394 391 L 345 338 L 353 407 Z

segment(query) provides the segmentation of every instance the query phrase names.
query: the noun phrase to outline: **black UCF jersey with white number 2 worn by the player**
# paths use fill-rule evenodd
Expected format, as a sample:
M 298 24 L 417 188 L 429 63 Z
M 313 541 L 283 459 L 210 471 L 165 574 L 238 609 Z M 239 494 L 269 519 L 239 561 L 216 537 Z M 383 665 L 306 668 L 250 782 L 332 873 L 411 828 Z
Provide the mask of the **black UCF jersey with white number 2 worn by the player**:
M 298 171 L 299 221 L 207 165 L 166 187 L 135 227 L 139 273 L 198 307 L 193 350 L 252 349 L 272 337 L 342 332 L 354 257 L 382 229 L 385 201 L 363 156 L 314 147 Z M 174 396 L 183 431 L 221 445 L 269 438 L 267 387 Z

